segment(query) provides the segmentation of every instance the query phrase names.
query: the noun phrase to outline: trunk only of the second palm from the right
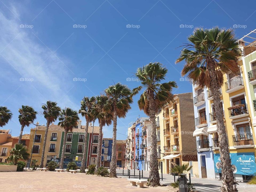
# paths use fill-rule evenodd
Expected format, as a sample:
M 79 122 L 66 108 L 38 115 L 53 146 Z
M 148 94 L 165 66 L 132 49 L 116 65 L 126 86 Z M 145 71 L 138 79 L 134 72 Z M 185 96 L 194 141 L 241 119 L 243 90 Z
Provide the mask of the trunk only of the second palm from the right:
M 151 150 L 150 150 L 150 172 L 149 172 L 149 185 L 159 186 L 160 176 L 158 172 L 158 161 L 157 161 L 157 134 L 155 127 L 155 101 L 154 95 L 151 91 L 149 93 L 149 118 L 151 124 Z

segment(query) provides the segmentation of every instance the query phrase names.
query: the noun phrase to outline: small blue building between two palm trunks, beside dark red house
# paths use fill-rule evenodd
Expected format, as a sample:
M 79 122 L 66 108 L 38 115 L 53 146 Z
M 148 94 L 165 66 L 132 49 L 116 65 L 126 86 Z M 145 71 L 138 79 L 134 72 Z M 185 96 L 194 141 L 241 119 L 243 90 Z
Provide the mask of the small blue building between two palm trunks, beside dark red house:
M 112 138 L 103 138 L 101 151 L 101 166 L 110 167 L 112 157 Z

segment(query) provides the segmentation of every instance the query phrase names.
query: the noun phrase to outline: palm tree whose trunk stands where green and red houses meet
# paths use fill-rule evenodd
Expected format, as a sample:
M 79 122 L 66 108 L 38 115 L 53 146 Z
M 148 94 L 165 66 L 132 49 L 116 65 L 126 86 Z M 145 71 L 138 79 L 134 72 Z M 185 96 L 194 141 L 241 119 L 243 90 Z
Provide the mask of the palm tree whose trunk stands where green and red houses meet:
M 81 113 L 81 115 L 83 117 L 85 117 L 86 120 L 86 126 L 85 126 L 85 136 L 84 136 L 84 143 L 83 143 L 83 158 L 82 158 L 82 165 L 81 165 L 81 169 L 80 172 L 81 173 L 85 173 L 85 169 L 86 169 L 86 149 L 87 149 L 87 134 L 88 134 L 88 127 L 89 127 L 89 123 L 94 121 L 95 117 L 93 116 L 93 110 L 94 110 L 94 106 L 95 106 L 95 102 L 96 102 L 96 98 L 95 97 L 84 97 L 81 101 L 81 109 L 79 110 L 79 113 Z M 88 150 L 88 154 L 89 154 L 89 150 Z

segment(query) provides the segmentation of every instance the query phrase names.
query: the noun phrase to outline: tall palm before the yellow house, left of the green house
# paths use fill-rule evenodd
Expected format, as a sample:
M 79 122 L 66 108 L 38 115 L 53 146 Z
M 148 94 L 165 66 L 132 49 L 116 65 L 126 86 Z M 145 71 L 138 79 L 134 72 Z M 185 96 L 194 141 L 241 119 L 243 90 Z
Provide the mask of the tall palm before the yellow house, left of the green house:
M 45 146 L 46 146 L 46 139 L 47 139 L 49 126 L 52 122 L 57 120 L 61 112 L 61 108 L 57 106 L 57 102 L 53 102 L 53 101 L 47 101 L 45 104 L 42 105 L 42 109 L 43 109 L 43 115 L 47 123 L 46 123 L 46 129 L 45 129 L 45 136 L 43 139 L 43 149 L 42 149 L 40 168 L 43 168 L 43 160 L 45 157 Z

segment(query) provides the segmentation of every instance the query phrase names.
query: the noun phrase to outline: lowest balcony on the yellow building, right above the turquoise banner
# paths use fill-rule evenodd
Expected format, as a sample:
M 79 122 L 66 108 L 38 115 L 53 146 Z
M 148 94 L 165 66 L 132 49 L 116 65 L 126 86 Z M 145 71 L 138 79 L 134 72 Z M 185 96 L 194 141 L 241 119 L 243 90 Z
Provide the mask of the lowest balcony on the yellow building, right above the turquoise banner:
M 247 147 L 254 147 L 253 144 L 253 134 L 240 134 L 240 135 L 233 135 L 233 147 L 234 148 L 247 148 Z

